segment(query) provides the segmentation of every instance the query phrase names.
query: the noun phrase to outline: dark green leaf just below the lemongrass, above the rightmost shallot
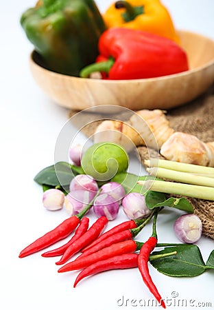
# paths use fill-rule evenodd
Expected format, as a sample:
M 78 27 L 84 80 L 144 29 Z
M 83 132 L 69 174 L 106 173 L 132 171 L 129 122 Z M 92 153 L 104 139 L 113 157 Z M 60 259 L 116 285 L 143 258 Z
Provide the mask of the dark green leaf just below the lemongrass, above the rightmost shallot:
M 146 205 L 149 209 L 154 209 L 157 207 L 174 207 L 179 210 L 187 211 L 188 213 L 193 213 L 194 209 L 189 201 L 182 197 L 182 198 L 174 198 L 170 197 L 165 200 L 165 196 L 162 198 L 161 196 L 156 195 L 157 192 L 148 192 L 145 197 Z M 161 193 L 158 193 L 161 194 Z M 158 199 L 160 199 L 158 201 Z M 161 200 L 162 199 L 162 200 Z

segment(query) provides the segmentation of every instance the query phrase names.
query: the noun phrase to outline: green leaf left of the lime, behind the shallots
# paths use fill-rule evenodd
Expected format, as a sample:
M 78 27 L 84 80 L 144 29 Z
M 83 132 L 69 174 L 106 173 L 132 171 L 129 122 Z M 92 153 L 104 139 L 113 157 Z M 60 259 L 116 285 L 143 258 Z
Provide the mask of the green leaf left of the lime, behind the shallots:
M 61 161 L 38 172 L 34 180 L 40 185 L 64 186 L 69 185 L 71 179 L 82 172 L 81 167 Z

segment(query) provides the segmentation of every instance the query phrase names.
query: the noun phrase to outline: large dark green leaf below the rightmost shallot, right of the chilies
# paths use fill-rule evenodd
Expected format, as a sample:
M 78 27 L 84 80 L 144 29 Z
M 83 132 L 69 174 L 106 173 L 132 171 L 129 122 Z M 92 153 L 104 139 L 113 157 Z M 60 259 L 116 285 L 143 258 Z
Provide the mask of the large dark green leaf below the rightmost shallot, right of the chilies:
M 173 277 L 199 276 L 206 270 L 206 265 L 197 245 L 167 247 L 162 251 L 154 251 L 153 254 L 165 254 L 171 251 L 177 251 L 177 254 L 153 260 L 152 266 L 161 273 Z

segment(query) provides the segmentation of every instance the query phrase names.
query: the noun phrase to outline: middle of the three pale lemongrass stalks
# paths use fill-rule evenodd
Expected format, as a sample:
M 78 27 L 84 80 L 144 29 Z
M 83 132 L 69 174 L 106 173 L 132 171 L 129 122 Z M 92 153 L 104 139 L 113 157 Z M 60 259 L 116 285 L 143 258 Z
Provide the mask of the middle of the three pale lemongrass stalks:
M 214 187 L 214 178 L 195 176 L 194 174 L 189 174 L 188 172 L 178 172 L 160 167 L 147 168 L 146 170 L 148 174 L 151 176 L 157 176 L 158 178 L 168 178 L 169 180 L 186 184 Z

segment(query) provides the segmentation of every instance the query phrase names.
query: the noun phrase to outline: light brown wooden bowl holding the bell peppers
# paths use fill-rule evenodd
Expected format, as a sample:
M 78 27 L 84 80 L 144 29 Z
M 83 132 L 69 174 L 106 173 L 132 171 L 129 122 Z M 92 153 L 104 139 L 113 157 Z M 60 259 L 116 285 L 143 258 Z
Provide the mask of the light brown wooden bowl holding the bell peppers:
M 82 79 L 46 70 L 35 52 L 30 56 L 30 69 L 49 98 L 72 110 L 97 105 L 168 110 L 195 99 L 214 81 L 214 41 L 191 32 L 179 34 L 190 67 L 180 74 L 124 81 Z

